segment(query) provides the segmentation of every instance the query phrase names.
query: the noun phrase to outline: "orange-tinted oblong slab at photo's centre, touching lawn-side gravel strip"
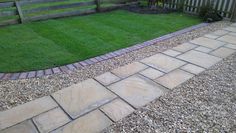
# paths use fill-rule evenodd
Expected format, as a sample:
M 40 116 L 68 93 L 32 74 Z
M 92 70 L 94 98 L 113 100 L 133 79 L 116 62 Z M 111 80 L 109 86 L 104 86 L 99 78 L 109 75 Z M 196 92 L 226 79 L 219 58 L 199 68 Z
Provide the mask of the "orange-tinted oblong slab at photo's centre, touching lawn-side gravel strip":
M 141 70 L 144 70 L 145 68 L 147 68 L 146 65 L 144 65 L 140 62 L 134 62 L 134 63 L 128 64 L 126 66 L 114 69 L 114 70 L 112 70 L 112 73 L 114 73 L 115 75 L 117 75 L 121 78 L 126 78 L 126 77 L 133 75 Z

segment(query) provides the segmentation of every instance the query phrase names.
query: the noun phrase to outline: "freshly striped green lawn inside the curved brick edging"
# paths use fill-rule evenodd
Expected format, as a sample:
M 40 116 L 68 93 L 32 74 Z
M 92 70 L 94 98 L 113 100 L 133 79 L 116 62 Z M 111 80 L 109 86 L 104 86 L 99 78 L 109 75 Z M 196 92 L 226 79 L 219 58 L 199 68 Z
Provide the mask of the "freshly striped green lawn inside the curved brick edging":
M 0 28 L 0 72 L 46 69 L 85 60 L 201 23 L 181 14 L 113 11 Z

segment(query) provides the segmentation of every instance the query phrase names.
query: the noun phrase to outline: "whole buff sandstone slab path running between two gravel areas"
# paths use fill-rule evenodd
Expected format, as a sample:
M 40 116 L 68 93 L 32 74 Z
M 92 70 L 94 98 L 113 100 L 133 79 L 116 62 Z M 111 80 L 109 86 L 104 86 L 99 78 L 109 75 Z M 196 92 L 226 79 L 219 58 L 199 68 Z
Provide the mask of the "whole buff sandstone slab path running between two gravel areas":
M 0 132 L 100 132 L 234 53 L 235 34 L 233 24 L 0 112 Z

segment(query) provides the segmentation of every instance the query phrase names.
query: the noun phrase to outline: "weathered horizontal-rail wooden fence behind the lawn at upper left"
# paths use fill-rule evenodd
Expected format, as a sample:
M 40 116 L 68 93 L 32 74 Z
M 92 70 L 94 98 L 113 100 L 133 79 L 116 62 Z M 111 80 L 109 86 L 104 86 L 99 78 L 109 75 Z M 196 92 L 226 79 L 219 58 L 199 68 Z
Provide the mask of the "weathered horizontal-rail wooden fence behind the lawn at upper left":
M 136 0 L 20 0 L 0 2 L 0 26 L 104 12 L 138 4 Z

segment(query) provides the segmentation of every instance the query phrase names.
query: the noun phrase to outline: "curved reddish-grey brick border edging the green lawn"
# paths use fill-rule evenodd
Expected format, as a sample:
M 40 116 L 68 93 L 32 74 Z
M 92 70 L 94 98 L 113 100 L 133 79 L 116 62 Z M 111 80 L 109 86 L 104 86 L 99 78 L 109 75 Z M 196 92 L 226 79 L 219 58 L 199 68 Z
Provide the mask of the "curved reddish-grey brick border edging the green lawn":
M 61 72 L 70 73 L 75 69 L 80 69 L 82 67 L 92 65 L 97 62 L 108 60 L 108 59 L 123 55 L 125 53 L 135 51 L 135 50 L 144 48 L 146 46 L 150 46 L 150 45 L 156 44 L 158 42 L 164 41 L 166 39 L 170 39 L 172 37 L 175 37 L 177 35 L 180 35 L 180 34 L 183 34 L 183 33 L 186 33 L 186 32 L 201 28 L 201 27 L 205 27 L 207 25 L 209 25 L 209 24 L 208 23 L 201 23 L 201 24 L 198 24 L 195 26 L 191 26 L 191 27 L 188 27 L 188 28 L 185 28 L 185 29 L 182 29 L 182 30 L 158 37 L 158 38 L 155 38 L 153 40 L 143 42 L 141 44 L 136 44 L 136 45 L 133 45 L 128 48 L 120 49 L 120 50 L 110 52 L 110 53 L 107 53 L 107 54 L 104 54 L 101 56 L 97 56 L 97 57 L 90 58 L 90 59 L 87 59 L 84 61 L 80 61 L 80 62 L 76 62 L 76 63 L 72 63 L 72 64 L 60 66 L 60 67 L 54 67 L 54 68 L 45 69 L 45 70 L 20 72 L 20 73 L 0 73 L 0 80 L 16 80 L 16 79 L 43 77 L 45 75 L 51 75 L 51 74 L 56 74 L 56 73 L 61 73 Z

